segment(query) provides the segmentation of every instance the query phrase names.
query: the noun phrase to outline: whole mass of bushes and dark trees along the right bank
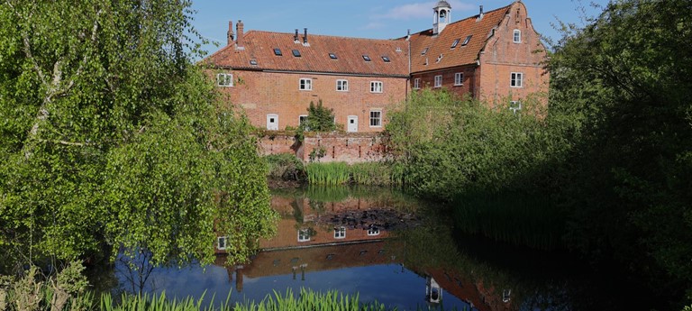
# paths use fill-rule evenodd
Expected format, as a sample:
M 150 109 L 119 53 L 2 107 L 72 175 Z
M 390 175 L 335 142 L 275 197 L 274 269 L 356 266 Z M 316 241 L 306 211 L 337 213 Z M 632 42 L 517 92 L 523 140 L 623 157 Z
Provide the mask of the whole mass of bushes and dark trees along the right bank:
M 674 309 L 688 303 L 689 16 L 687 0 L 613 1 L 565 33 L 548 64 L 550 107 L 538 118 L 414 94 L 387 124 L 406 187 L 458 200 L 549 194 L 571 250 L 626 267 Z

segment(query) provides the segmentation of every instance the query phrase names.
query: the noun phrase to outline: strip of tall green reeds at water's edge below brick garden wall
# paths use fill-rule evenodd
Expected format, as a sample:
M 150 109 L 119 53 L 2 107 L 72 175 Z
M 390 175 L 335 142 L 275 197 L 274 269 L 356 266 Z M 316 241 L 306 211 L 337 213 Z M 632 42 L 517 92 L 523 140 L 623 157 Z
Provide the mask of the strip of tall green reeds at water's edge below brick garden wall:
M 398 170 L 380 162 L 346 164 L 344 162 L 310 163 L 306 167 L 311 185 L 338 186 L 347 183 L 364 186 L 397 186 L 403 184 Z

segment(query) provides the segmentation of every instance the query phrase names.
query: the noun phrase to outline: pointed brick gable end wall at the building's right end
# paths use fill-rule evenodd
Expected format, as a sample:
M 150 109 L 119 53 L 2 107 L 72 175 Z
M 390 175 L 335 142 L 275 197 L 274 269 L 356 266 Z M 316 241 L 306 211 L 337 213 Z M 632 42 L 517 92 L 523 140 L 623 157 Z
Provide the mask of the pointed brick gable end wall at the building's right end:
M 513 41 L 515 29 L 521 31 L 520 43 Z M 546 57 L 545 47 L 526 16 L 526 7 L 515 3 L 481 53 L 480 99 L 492 105 L 508 105 L 505 101 L 547 94 L 549 75 L 543 69 Z M 510 87 L 512 72 L 524 74 L 523 87 Z M 543 97 L 547 103 L 547 96 Z

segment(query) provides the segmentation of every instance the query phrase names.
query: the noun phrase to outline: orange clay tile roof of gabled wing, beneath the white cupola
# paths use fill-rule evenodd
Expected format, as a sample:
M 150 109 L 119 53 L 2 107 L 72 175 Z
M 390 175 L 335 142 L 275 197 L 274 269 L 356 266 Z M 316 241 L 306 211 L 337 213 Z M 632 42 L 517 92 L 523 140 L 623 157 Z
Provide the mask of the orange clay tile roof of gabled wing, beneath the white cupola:
M 502 22 L 512 5 L 489 11 L 478 19 L 471 16 L 458 22 L 450 23 L 438 33 L 432 35 L 432 29 L 411 35 L 411 71 L 422 72 L 468 65 L 476 62 L 478 54 L 486 45 L 493 29 Z M 463 42 L 471 36 L 467 45 Z M 459 39 L 455 48 L 452 43 Z M 427 49 L 425 55 L 423 50 Z M 442 58 L 440 58 L 442 55 Z M 427 65 L 426 65 L 427 59 Z M 438 61 L 439 59 L 439 61 Z

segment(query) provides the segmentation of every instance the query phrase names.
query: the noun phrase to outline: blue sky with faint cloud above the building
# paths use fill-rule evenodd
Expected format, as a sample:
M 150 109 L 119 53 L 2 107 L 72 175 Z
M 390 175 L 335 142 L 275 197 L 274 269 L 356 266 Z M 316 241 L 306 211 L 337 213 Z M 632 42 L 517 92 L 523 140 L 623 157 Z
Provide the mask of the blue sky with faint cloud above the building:
M 509 5 L 513 0 L 448 0 L 452 22 L 485 11 Z M 543 36 L 557 40 L 560 33 L 551 24 L 557 21 L 582 24 L 585 14 L 600 13 L 595 5 L 608 0 L 524 0 L 533 27 Z M 242 20 L 245 32 L 263 30 L 294 32 L 308 28 L 308 33 L 393 39 L 406 30 L 420 32 L 432 27 L 432 7 L 436 0 L 193 0 L 196 10 L 194 26 L 206 39 L 226 42 L 228 21 Z M 233 26 L 235 27 L 235 26 Z M 218 48 L 207 45 L 205 50 Z

